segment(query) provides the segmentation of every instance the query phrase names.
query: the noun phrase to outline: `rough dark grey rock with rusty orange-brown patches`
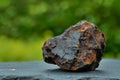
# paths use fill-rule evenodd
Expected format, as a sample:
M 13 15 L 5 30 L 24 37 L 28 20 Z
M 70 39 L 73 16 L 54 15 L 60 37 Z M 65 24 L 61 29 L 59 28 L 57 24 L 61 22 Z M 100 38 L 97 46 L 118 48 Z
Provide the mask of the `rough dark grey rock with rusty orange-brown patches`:
M 91 71 L 99 66 L 105 48 L 104 34 L 90 22 L 81 21 L 43 45 L 44 61 L 64 70 Z

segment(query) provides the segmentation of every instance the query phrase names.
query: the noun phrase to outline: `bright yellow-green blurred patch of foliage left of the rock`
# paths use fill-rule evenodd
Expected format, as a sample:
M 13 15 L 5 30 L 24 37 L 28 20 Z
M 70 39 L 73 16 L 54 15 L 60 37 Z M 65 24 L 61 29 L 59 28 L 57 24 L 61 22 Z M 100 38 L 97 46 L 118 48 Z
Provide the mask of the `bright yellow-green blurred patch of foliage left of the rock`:
M 42 60 L 42 45 L 44 44 L 44 41 L 48 40 L 51 37 L 52 34 L 50 31 L 45 32 L 42 39 L 29 39 L 29 41 L 9 39 L 5 36 L 1 36 L 0 62 Z

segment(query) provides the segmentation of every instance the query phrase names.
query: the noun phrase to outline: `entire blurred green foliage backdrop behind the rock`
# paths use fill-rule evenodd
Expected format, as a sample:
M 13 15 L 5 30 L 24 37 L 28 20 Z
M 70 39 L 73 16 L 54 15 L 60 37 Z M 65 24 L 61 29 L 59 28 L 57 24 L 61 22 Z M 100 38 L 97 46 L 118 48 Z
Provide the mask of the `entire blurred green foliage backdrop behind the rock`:
M 120 58 L 120 0 L 0 0 L 0 61 L 42 60 L 44 41 L 80 20 L 105 33 L 105 58 Z

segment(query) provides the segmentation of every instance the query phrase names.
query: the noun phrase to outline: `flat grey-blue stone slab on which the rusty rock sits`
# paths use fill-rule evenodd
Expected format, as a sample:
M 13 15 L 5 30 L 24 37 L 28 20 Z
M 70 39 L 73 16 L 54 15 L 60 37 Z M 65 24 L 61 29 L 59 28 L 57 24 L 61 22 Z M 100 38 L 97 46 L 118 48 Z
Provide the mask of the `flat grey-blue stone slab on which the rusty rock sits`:
M 120 60 L 103 59 L 88 72 L 63 71 L 45 62 L 0 63 L 0 80 L 120 80 Z

